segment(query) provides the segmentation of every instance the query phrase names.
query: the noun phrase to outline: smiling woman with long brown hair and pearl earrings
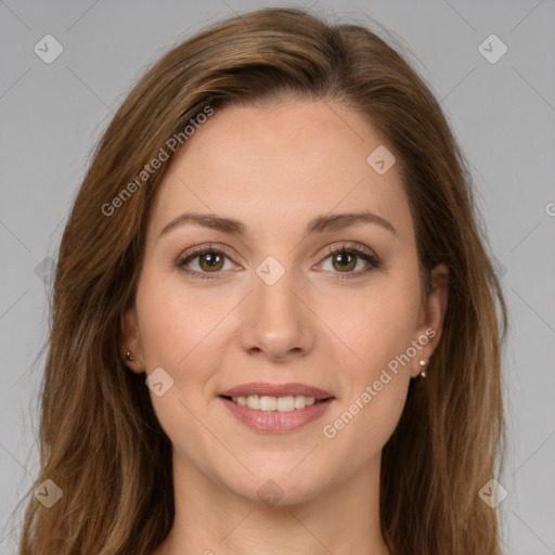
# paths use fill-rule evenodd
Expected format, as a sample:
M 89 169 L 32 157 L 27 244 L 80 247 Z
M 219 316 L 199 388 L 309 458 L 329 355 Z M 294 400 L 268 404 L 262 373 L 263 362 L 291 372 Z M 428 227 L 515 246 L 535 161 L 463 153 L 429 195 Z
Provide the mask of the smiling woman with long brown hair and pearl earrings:
M 268 9 L 171 50 L 65 229 L 21 553 L 501 553 L 476 219 L 373 33 Z

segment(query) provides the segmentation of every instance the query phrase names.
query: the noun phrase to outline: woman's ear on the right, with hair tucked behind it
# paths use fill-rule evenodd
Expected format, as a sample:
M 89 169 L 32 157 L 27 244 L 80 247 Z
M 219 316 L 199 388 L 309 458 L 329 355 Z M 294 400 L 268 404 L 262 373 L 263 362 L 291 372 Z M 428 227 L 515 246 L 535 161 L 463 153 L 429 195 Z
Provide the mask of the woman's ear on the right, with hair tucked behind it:
M 449 269 L 441 263 L 436 266 L 430 273 L 430 292 L 422 301 L 418 313 L 418 324 L 414 339 L 422 346 L 418 354 L 411 364 L 411 375 L 416 377 L 423 367 L 421 360 L 430 359 L 441 338 L 443 320 L 446 317 L 449 298 Z

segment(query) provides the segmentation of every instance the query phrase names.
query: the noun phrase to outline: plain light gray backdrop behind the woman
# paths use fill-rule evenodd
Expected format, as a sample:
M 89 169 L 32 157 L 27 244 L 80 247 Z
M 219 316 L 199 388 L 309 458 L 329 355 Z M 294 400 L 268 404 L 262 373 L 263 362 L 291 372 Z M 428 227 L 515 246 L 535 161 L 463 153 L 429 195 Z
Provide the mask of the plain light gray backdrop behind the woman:
M 37 470 L 42 358 L 34 361 L 48 322 L 44 268 L 91 150 L 143 69 L 172 44 L 268 5 L 293 4 L 0 0 L 1 553 L 15 553 L 22 515 L 11 513 Z M 472 163 L 511 311 L 501 480 L 508 495 L 500 505 L 507 554 L 555 554 L 555 1 L 312 5 L 390 29 L 441 99 Z M 47 34 L 64 49 L 51 64 L 34 52 Z M 508 47 L 494 64 L 478 51 L 491 34 Z

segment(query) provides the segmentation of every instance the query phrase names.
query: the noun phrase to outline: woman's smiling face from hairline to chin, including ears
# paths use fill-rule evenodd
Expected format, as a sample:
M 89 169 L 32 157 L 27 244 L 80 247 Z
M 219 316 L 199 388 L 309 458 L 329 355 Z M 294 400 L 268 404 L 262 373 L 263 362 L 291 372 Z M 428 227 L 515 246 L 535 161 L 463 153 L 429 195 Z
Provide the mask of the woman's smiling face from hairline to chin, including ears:
M 380 145 L 345 106 L 295 101 L 216 112 L 173 160 L 122 341 L 133 371 L 163 369 L 175 464 L 294 503 L 379 461 L 447 298 L 423 297 L 398 168 L 366 160 Z

